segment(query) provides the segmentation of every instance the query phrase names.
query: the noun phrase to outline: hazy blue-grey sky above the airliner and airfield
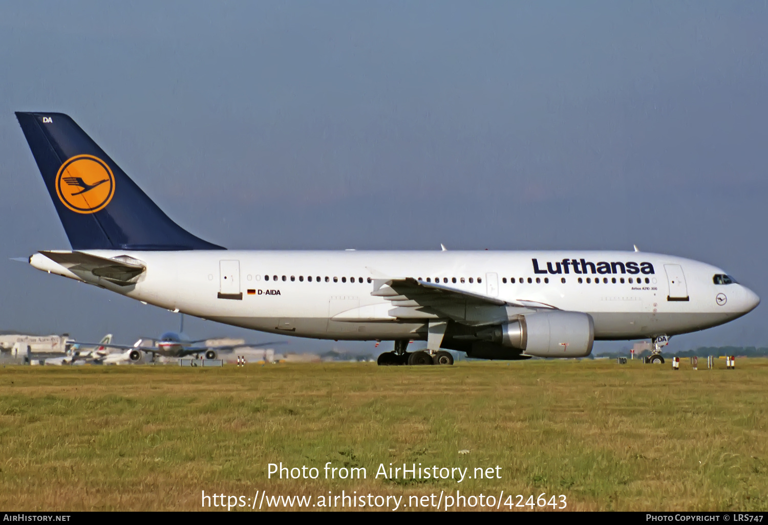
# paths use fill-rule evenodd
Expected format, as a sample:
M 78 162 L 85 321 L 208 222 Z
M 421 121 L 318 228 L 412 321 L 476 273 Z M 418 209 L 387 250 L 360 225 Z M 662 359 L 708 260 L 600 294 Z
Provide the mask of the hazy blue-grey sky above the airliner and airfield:
M 71 115 L 228 248 L 636 244 L 766 298 L 766 27 L 766 2 L 0 2 L 0 330 L 179 322 L 10 260 L 70 247 L 14 111 Z M 333 345 L 374 352 L 283 348 Z M 768 346 L 766 305 L 670 349 L 701 345 Z

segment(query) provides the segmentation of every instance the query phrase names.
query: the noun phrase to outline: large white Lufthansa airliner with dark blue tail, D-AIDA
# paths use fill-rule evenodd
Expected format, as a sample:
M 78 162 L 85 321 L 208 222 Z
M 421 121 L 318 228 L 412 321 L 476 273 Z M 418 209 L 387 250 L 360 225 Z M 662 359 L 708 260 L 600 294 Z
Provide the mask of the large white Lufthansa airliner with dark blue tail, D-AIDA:
M 16 113 L 71 250 L 37 269 L 152 305 L 307 338 L 394 341 L 380 365 L 576 358 L 595 340 L 722 325 L 760 299 L 727 272 L 615 251 L 234 251 L 163 213 L 65 114 Z M 406 352 L 425 340 L 425 351 Z

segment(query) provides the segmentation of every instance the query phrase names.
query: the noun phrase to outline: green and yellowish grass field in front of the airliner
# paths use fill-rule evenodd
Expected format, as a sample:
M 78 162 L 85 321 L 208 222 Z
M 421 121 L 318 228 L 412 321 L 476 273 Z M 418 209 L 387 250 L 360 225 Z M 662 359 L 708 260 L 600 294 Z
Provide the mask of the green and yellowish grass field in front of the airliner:
M 716 364 L 8 366 L 0 508 L 198 510 L 201 490 L 408 500 L 458 489 L 563 494 L 569 510 L 766 510 L 768 360 Z M 320 476 L 267 480 L 280 461 Z M 367 478 L 323 479 L 327 461 Z M 502 479 L 375 479 L 390 462 L 470 475 L 498 465 Z

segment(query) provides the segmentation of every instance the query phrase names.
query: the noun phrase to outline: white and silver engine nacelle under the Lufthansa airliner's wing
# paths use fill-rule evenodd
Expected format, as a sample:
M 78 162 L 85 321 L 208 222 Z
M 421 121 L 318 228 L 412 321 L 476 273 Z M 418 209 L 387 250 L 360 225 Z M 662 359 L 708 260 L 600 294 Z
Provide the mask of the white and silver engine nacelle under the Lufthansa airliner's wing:
M 478 337 L 537 357 L 584 357 L 592 352 L 594 321 L 583 312 L 536 312 L 478 332 Z

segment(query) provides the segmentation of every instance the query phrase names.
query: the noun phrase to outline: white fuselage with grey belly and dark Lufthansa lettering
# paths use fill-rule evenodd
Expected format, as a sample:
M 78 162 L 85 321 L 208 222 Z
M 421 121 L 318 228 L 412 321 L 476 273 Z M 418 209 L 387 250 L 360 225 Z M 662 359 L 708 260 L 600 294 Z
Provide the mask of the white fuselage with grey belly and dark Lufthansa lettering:
M 84 253 L 105 258 L 131 256 L 146 271 L 135 284 L 118 286 L 94 276 L 75 276 L 41 254 L 32 256 L 31 264 L 165 309 L 308 338 L 425 338 L 427 317 L 402 319 L 392 315 L 392 303 L 386 297 L 371 295 L 377 281 L 405 277 L 437 279 L 442 286 L 523 302 L 531 308 L 586 312 L 594 319 L 594 338 L 603 340 L 694 332 L 736 319 L 760 302 L 745 286 L 715 284 L 713 276 L 724 274 L 722 269 L 654 253 Z

